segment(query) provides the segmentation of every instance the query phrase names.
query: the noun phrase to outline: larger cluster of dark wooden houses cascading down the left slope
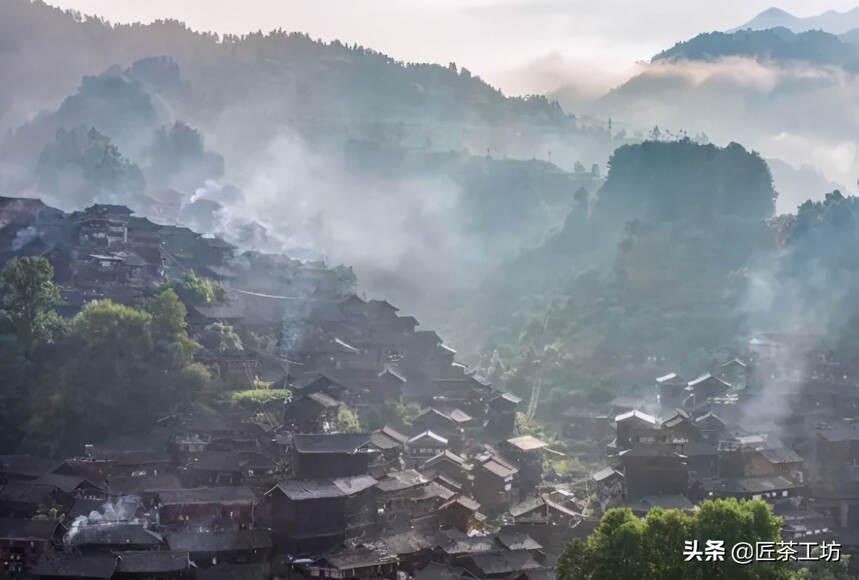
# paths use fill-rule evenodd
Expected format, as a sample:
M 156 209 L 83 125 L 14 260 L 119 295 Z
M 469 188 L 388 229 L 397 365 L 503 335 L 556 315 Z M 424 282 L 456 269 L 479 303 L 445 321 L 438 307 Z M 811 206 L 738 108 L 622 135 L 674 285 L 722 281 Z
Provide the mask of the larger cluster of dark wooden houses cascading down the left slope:
M 520 399 L 413 317 L 357 296 L 351 270 L 239 254 L 121 206 L 3 198 L 0 220 L 2 258 L 49 259 L 71 311 L 190 269 L 222 282 L 223 301 L 189 305 L 189 332 L 230 324 L 275 336 L 277 352 L 204 362 L 236 389 L 264 379 L 289 393 L 197 402 L 62 460 L 0 456 L 10 575 L 535 580 L 586 534 L 579 503 L 541 487 L 549 450 L 516 432 Z M 344 407 L 363 430 L 343 432 Z

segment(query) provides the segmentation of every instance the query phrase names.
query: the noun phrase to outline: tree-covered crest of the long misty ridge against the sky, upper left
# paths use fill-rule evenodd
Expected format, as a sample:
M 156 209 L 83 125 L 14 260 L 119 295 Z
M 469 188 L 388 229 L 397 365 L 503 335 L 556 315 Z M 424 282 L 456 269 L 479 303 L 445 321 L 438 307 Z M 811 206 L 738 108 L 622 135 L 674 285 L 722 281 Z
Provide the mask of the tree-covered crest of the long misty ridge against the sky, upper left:
M 544 98 L 506 98 L 465 68 L 406 64 L 299 33 L 219 37 L 172 20 L 114 25 L 41 1 L 6 0 L 0 3 L 0 38 L 0 125 L 6 127 L 55 106 L 85 75 L 155 55 L 176 59 L 207 95 L 198 106 L 217 108 L 231 97 L 255 94 L 276 97 L 280 110 L 294 105 L 304 116 L 523 117 L 550 123 L 566 117 Z

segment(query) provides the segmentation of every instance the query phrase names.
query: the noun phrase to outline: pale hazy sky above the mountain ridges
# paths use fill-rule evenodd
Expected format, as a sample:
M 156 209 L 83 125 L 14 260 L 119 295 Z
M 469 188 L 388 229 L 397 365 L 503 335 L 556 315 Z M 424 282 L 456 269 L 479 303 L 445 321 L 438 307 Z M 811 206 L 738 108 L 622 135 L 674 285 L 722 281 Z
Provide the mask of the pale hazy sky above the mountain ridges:
M 400 60 L 456 61 L 508 93 L 544 92 L 565 79 L 602 88 L 699 32 L 742 24 L 773 0 L 49 0 L 111 21 L 183 20 L 243 33 L 283 28 L 357 42 Z M 781 0 L 798 16 L 859 0 Z

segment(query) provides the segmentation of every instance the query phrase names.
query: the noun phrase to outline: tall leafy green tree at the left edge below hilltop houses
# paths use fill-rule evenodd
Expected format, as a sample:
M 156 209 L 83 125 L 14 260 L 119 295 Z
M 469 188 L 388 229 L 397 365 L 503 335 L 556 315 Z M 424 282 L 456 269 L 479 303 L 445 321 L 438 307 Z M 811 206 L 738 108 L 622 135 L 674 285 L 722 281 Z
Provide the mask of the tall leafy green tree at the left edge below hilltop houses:
M 45 258 L 23 257 L 9 260 L 3 267 L 2 305 L 25 352 L 34 343 L 51 340 L 61 326 L 54 307 L 62 302 L 60 288 L 53 282 L 54 268 Z

